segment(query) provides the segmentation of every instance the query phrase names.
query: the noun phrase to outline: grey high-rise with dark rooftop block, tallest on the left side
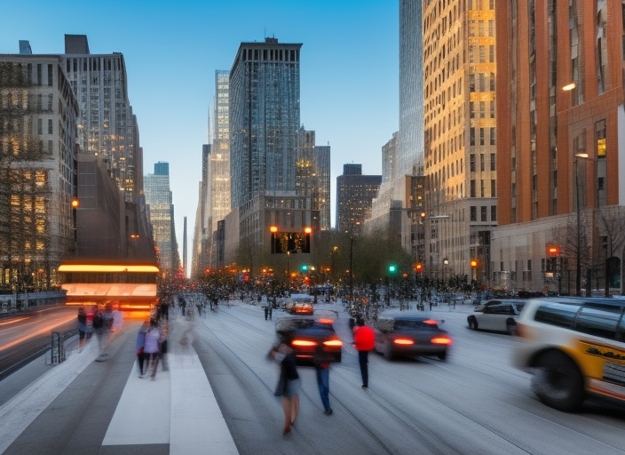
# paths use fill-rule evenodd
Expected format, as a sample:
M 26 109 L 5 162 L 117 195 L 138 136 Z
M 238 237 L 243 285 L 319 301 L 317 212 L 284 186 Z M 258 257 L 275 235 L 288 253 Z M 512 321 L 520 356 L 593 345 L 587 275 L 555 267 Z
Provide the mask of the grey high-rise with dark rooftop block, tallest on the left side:
M 66 35 L 63 68 L 80 114 L 81 151 L 101 156 L 128 202 L 137 203 L 143 175 L 138 127 L 128 98 L 123 54 L 91 54 L 87 36 Z

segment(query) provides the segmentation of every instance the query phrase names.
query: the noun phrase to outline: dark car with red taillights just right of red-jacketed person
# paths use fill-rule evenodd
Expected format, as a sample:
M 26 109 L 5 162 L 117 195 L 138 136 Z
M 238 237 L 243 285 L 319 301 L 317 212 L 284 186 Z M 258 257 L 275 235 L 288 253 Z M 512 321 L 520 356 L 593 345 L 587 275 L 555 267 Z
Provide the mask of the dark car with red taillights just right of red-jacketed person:
M 439 323 L 423 312 L 384 311 L 373 324 L 376 333 L 376 353 L 390 360 L 398 356 L 435 355 L 447 358 L 453 344 L 451 336 Z

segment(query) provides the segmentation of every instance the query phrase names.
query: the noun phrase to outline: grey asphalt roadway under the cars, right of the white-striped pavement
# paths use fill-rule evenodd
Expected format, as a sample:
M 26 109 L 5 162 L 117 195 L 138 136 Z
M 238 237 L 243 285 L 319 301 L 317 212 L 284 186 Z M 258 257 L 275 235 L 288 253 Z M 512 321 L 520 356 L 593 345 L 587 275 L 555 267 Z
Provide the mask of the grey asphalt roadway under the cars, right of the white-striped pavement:
M 540 403 L 530 376 L 510 366 L 515 339 L 468 330 L 472 307 L 433 309 L 455 339 L 447 362 L 389 362 L 372 353 L 368 390 L 360 387 L 347 313 L 340 304 L 322 307 L 337 310 L 344 340 L 343 362 L 330 372 L 334 413 L 323 413 L 313 368 L 300 367 L 301 414 L 288 438 L 273 396 L 277 367 L 266 356 L 274 321 L 241 304 L 197 320 L 194 347 L 241 454 L 625 453 L 621 410 L 587 402 L 580 414 L 566 414 Z

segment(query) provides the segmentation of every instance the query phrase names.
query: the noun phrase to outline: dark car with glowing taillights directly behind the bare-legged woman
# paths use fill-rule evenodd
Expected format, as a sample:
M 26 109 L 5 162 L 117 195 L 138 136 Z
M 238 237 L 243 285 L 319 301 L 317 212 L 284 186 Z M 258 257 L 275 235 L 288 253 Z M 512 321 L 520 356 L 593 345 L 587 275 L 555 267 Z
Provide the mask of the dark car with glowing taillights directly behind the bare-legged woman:
M 336 335 L 334 318 L 329 315 L 279 317 L 275 323 L 275 331 L 281 337 L 288 336 L 297 363 L 313 363 L 319 347 L 334 362 L 341 362 L 343 341 Z

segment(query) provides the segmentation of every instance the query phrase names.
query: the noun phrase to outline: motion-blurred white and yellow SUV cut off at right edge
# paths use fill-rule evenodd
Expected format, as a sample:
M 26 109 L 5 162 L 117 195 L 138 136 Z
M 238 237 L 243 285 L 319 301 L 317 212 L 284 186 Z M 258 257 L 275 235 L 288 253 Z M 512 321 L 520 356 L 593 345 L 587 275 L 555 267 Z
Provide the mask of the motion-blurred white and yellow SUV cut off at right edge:
M 533 375 L 542 403 L 566 412 L 587 397 L 625 405 L 625 300 L 529 299 L 517 326 L 512 364 Z

